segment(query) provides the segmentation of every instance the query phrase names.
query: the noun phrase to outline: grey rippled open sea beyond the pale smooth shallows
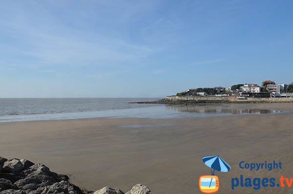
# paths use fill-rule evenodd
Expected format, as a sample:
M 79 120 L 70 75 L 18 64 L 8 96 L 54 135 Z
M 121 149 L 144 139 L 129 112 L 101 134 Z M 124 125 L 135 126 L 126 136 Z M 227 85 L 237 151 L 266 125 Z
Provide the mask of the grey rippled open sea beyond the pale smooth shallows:
M 0 116 L 52 114 L 150 107 L 130 102 L 157 100 L 153 98 L 10 98 L 0 99 Z

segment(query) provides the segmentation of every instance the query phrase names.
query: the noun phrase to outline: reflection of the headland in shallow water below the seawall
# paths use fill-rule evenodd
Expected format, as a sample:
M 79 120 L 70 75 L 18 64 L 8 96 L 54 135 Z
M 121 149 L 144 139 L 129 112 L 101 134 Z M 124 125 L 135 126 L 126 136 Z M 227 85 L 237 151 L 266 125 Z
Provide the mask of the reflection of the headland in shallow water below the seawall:
M 270 114 L 279 113 L 281 110 L 245 108 L 234 105 L 191 105 L 191 106 L 166 106 L 168 110 L 190 113 L 206 114 Z

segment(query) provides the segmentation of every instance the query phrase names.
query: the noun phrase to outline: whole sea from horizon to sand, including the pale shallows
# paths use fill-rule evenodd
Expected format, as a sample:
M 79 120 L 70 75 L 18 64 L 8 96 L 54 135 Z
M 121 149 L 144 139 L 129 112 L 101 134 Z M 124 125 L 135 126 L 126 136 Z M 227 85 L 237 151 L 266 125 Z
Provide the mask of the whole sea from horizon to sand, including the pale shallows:
M 0 123 L 97 117 L 157 119 L 281 112 L 225 104 L 171 106 L 132 103 L 159 99 L 161 98 L 0 98 Z

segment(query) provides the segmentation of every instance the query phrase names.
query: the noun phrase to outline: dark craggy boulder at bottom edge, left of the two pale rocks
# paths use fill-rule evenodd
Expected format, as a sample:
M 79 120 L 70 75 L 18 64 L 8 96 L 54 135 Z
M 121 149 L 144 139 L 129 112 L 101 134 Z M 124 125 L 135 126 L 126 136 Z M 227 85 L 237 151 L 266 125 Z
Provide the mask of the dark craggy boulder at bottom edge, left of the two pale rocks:
M 67 181 L 61 181 L 51 186 L 46 186 L 41 194 L 83 194 L 83 192 L 77 186 Z

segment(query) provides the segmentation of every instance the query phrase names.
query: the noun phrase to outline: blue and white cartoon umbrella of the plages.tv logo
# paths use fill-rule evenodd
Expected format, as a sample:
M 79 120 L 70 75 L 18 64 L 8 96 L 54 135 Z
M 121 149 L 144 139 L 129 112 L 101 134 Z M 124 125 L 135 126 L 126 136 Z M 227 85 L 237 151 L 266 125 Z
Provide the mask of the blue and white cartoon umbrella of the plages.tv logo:
M 231 169 L 230 165 L 218 155 L 204 156 L 203 161 L 205 165 L 214 170 L 213 172 L 211 172 L 212 175 L 214 174 L 215 170 L 220 172 L 228 172 Z

